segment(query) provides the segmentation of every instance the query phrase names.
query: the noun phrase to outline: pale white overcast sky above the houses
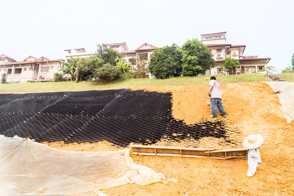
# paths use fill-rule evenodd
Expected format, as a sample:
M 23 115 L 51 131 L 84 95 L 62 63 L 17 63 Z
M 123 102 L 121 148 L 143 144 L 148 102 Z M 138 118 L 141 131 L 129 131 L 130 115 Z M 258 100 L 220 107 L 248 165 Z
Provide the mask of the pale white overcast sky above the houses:
M 280 73 L 294 53 L 294 0 L 1 0 L 0 54 L 64 58 L 101 43 L 181 46 L 226 31 L 244 55 L 270 57 Z

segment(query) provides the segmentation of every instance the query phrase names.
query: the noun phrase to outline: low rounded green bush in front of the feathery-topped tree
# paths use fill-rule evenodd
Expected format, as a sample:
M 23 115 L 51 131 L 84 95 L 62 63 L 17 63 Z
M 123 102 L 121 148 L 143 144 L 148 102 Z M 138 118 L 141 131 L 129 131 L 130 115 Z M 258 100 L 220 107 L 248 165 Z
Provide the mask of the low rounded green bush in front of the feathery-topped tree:
M 115 67 L 109 63 L 97 69 L 96 77 L 102 81 L 111 81 L 122 78 L 122 68 Z

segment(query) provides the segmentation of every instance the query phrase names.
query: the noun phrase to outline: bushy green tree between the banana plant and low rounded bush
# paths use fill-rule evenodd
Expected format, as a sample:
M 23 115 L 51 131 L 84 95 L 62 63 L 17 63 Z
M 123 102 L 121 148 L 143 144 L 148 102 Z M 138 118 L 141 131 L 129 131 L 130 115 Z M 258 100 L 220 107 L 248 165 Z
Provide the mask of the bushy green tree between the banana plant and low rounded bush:
M 79 80 L 91 80 L 95 77 L 97 69 L 102 67 L 103 60 L 92 56 L 80 59 L 79 64 Z

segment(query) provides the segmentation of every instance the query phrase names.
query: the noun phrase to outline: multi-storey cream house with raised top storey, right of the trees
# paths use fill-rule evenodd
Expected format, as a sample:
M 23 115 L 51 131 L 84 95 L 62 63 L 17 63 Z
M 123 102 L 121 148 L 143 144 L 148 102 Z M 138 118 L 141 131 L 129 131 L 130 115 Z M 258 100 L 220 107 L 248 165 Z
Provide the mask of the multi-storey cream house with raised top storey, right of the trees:
M 225 57 L 238 59 L 240 66 L 233 74 L 250 74 L 255 70 L 263 70 L 270 58 L 258 58 L 257 55 L 244 55 L 246 45 L 232 45 L 226 43 L 226 32 L 201 35 L 201 42 L 213 53 L 217 66 L 206 71 L 205 74 L 216 75 L 223 73 L 222 61 Z

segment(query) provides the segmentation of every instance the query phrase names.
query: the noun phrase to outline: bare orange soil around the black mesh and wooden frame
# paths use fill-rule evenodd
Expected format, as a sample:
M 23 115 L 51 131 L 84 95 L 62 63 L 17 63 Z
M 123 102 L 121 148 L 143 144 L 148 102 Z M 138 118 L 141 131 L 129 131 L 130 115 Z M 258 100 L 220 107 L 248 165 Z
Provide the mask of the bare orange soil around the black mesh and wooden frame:
M 172 92 L 173 116 L 187 124 L 197 123 L 211 114 L 208 85 L 144 87 L 157 92 Z M 262 132 L 262 163 L 257 174 L 247 177 L 247 160 L 131 155 L 134 162 L 162 172 L 177 183 L 148 186 L 127 184 L 102 190 L 109 196 L 288 196 L 294 195 L 294 121 L 286 122 L 279 99 L 266 83 L 221 84 L 226 121 L 245 137 Z M 65 150 L 117 150 L 107 142 L 71 146 L 52 145 Z

